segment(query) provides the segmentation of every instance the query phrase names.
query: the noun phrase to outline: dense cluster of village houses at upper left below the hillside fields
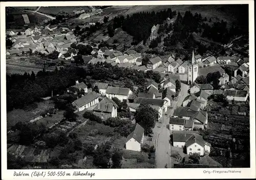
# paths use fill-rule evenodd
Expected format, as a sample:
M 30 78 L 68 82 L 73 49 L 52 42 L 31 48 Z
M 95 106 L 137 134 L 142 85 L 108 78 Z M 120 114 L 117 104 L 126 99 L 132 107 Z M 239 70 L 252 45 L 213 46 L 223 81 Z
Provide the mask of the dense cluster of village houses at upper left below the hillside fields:
M 47 25 L 46 27 L 31 27 L 27 30 L 9 30 L 6 35 L 13 42 L 12 47 L 6 50 L 6 55 L 27 54 L 38 52 L 41 54 L 50 54 L 56 50 L 61 57 L 71 58 L 76 55 L 71 49 L 71 44 L 77 42 L 74 35 L 75 27 L 58 27 L 57 25 Z

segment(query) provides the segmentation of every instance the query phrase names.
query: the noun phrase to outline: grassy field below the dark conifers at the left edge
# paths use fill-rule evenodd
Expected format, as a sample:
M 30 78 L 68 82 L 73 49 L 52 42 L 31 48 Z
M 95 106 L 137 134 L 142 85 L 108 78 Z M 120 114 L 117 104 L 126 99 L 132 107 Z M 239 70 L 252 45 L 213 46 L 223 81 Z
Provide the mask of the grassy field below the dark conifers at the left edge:
M 7 112 L 7 131 L 9 131 L 11 126 L 15 125 L 19 121 L 29 122 L 31 119 L 38 117 L 40 113 L 44 112 L 45 110 L 54 108 L 52 100 L 44 100 L 35 103 L 38 106 L 37 108 L 33 108 L 33 105 L 31 105 L 28 107 L 28 110 L 15 109 Z

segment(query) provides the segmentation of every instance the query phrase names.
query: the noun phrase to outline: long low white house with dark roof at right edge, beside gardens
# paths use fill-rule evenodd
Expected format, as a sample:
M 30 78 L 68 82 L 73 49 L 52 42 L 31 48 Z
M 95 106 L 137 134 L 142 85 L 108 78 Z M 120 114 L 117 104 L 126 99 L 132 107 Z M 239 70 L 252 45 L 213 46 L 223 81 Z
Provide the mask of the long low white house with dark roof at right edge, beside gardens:
M 224 94 L 227 96 L 228 100 L 236 100 L 243 102 L 245 102 L 249 96 L 249 92 L 243 90 L 225 90 Z

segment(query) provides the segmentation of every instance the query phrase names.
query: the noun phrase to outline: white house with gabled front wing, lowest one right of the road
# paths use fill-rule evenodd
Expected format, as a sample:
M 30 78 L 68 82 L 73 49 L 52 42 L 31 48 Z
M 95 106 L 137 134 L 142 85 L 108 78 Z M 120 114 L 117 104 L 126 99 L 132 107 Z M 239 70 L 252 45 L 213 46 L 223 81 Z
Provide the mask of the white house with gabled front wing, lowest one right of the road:
M 203 140 L 203 137 L 195 132 L 175 132 L 173 133 L 173 146 L 185 148 L 187 155 L 198 153 L 203 156 L 210 152 L 210 143 Z

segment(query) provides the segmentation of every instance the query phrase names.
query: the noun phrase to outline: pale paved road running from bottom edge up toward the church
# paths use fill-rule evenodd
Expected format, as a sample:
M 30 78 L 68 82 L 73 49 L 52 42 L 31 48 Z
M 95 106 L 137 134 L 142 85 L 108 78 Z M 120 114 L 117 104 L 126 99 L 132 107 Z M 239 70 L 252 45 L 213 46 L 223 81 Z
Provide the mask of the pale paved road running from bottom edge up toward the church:
M 169 124 L 169 117 L 173 115 L 174 110 L 177 106 L 181 106 L 184 98 L 188 95 L 187 91 L 189 86 L 181 83 L 181 93 L 180 98 L 177 101 L 172 103 L 173 109 L 167 115 L 164 115 L 162 123 L 157 123 L 154 128 L 154 136 L 153 139 L 157 139 L 156 145 L 156 166 L 157 168 L 164 168 L 167 164 L 168 168 L 171 168 L 171 159 L 170 159 L 170 144 L 169 144 L 169 136 L 170 131 L 166 127 Z M 161 127 L 157 127 L 161 126 Z

